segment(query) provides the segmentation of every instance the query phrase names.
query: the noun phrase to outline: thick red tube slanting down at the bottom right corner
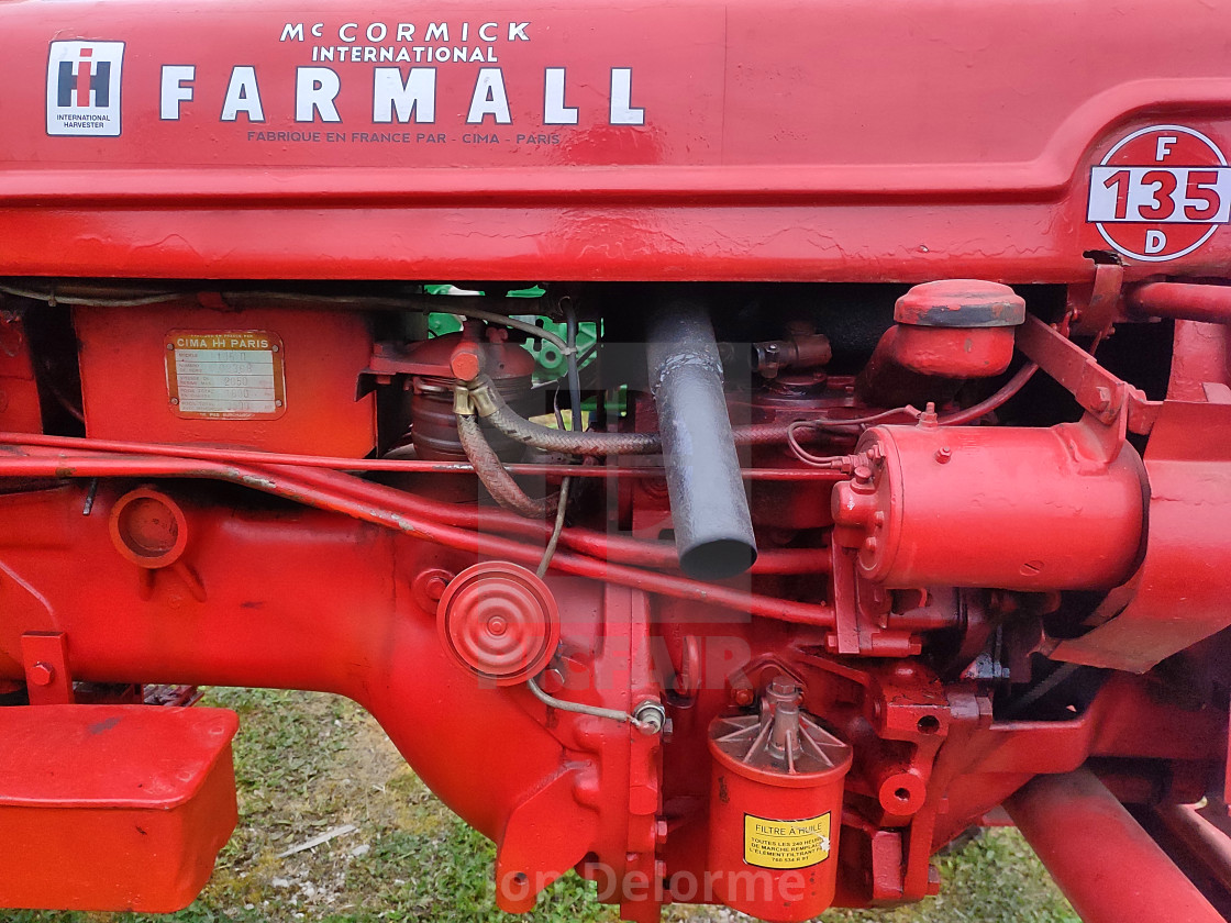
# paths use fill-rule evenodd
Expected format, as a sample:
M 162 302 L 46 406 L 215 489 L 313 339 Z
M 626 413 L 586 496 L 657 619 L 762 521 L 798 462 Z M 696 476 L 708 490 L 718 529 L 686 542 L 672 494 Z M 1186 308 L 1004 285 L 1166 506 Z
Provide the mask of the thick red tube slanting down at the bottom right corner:
M 1004 809 L 1086 923 L 1225 923 L 1088 769 L 1039 775 Z

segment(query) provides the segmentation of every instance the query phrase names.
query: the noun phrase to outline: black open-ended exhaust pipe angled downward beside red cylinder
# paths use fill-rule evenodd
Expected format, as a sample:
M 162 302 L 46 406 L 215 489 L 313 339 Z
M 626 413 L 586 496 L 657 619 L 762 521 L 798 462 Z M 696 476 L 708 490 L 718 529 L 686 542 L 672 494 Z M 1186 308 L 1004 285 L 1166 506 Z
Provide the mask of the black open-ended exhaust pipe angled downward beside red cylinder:
M 752 566 L 757 545 L 704 309 L 686 299 L 662 305 L 646 358 L 680 566 L 698 580 L 734 577 Z

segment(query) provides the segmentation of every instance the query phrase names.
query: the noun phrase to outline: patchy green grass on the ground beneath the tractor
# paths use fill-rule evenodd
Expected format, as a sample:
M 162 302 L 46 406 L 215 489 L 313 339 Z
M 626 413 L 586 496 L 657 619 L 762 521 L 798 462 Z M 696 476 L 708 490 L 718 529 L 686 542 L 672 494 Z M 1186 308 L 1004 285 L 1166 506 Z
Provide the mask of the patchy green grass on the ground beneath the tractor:
M 379 923 L 516 921 L 495 907 L 495 849 L 405 765 L 375 722 L 331 695 L 212 689 L 239 711 L 240 821 L 204 893 L 180 913 L 11 912 L 6 923 Z M 351 823 L 353 833 L 278 859 Z M 1070 923 L 1077 917 L 1016 831 L 993 829 L 938 860 L 939 897 L 892 911 L 832 911 L 826 921 Z M 569 875 L 539 898 L 534 923 L 617 921 L 595 886 Z M 670 907 L 673 923 L 734 923 L 725 908 Z

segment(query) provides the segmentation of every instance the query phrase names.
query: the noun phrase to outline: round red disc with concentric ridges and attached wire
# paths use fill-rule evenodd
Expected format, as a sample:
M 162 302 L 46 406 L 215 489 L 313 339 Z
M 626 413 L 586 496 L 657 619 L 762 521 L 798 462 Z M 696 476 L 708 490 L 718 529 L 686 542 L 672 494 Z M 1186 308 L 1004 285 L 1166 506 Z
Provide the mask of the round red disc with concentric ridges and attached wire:
M 496 685 L 539 673 L 560 641 L 560 614 L 547 583 L 506 561 L 476 564 L 449 581 L 437 626 L 449 652 Z

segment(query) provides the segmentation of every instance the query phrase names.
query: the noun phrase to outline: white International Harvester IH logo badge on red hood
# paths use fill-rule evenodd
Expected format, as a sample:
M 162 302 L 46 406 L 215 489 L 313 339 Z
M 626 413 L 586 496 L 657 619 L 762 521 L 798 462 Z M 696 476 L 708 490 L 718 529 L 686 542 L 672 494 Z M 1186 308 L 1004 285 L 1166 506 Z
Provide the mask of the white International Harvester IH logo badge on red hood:
M 117 137 L 123 63 L 123 42 L 52 42 L 47 133 Z

